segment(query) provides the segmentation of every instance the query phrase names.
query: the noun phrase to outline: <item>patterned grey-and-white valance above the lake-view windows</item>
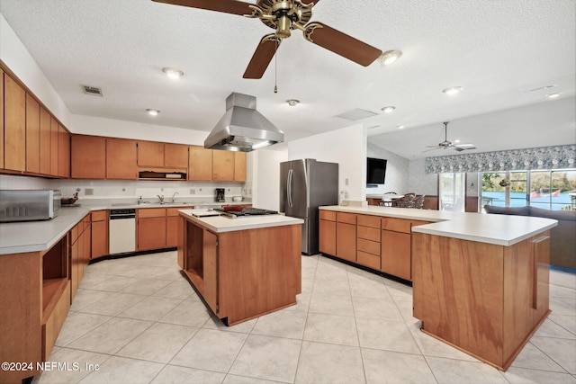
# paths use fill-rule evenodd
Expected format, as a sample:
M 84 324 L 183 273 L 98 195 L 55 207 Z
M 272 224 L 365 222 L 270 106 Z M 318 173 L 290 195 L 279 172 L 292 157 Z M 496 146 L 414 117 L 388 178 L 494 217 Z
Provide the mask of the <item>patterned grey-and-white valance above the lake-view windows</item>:
M 427 157 L 427 174 L 516 171 L 576 167 L 576 145 L 511 149 L 477 154 Z

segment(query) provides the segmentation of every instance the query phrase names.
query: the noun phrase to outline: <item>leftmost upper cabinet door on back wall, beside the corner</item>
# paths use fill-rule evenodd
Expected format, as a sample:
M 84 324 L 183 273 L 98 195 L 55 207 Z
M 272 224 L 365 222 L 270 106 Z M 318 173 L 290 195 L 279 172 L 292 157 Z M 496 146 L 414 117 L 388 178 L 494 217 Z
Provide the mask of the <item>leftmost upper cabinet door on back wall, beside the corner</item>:
M 72 178 L 103 179 L 106 175 L 106 139 L 72 136 Z

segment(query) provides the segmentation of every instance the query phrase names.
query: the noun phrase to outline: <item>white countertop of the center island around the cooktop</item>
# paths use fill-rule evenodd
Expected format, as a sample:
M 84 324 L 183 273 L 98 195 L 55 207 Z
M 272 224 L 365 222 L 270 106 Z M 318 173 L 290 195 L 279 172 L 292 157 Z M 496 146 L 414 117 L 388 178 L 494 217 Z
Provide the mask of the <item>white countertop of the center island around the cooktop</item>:
M 303 224 L 304 220 L 284 215 L 258 215 L 229 219 L 225 216 L 209 216 L 198 218 L 193 216 L 193 210 L 179 210 L 180 214 L 212 232 L 232 232 L 238 230 L 292 226 Z

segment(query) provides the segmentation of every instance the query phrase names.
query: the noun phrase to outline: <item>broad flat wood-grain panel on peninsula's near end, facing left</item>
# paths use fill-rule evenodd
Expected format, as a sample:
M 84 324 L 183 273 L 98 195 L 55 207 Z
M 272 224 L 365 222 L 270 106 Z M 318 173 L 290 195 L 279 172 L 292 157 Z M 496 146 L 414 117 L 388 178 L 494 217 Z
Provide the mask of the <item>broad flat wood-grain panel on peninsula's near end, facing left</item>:
M 414 317 L 423 330 L 502 366 L 502 246 L 413 233 Z

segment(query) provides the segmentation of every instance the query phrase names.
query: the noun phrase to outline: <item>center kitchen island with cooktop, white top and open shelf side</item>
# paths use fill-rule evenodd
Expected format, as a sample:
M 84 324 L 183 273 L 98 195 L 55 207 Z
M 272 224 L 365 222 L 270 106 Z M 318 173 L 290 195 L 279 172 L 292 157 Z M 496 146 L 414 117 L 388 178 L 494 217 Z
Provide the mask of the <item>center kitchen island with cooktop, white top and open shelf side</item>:
M 232 326 L 296 304 L 302 219 L 229 219 L 180 210 L 178 263 L 208 307 Z

